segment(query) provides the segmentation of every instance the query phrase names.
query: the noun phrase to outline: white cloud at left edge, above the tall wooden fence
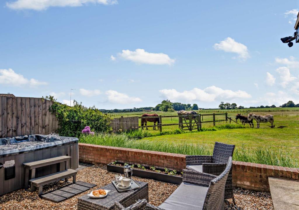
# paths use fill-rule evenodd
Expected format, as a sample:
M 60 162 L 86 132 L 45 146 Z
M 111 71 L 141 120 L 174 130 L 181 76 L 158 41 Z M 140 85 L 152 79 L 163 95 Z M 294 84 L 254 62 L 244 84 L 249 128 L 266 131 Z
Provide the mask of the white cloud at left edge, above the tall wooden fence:
M 9 84 L 12 86 L 29 85 L 36 87 L 38 85 L 46 85 L 47 82 L 40 82 L 36 79 L 27 79 L 22 74 L 18 74 L 10 69 L 0 69 L 0 84 Z

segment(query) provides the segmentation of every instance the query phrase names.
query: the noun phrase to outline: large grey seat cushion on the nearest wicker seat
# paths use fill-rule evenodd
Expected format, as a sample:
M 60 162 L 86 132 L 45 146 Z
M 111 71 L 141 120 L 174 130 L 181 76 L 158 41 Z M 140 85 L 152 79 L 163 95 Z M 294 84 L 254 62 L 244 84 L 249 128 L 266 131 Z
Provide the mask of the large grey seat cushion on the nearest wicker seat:
M 159 207 L 165 210 L 201 210 L 208 187 L 181 183 Z

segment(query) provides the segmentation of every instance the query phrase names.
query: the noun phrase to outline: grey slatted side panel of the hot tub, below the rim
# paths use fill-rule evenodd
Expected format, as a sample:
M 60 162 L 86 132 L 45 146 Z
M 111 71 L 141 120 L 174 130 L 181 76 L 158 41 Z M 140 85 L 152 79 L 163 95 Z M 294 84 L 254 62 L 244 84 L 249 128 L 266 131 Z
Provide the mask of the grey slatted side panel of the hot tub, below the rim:
M 43 160 L 51 157 L 67 155 L 71 156 L 70 167 L 76 169 L 79 167 L 78 160 L 78 142 L 73 142 L 65 145 L 60 145 L 52 148 L 44 148 L 27 153 L 17 154 L 13 156 L 0 157 L 0 163 L 5 163 L 9 160 L 15 161 L 15 178 L 4 180 L 4 167 L 0 169 L 0 195 L 8 192 L 24 188 L 25 168 L 23 163 Z M 41 168 L 36 168 L 35 177 L 42 177 L 48 174 L 56 173 L 65 169 L 65 163 L 60 168 L 60 164 L 53 164 Z M 29 174 L 30 175 L 30 174 Z M 31 175 L 30 175 L 31 177 Z

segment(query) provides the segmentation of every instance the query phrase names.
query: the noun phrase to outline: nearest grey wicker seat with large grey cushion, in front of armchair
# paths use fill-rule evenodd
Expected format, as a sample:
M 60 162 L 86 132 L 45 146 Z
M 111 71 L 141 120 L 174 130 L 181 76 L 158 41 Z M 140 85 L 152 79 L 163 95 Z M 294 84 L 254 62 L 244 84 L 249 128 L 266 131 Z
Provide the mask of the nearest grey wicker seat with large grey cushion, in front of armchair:
M 225 183 L 231 170 L 231 165 L 232 158 L 229 157 L 225 170 L 219 176 L 184 170 L 183 183 L 176 191 L 159 207 L 148 203 L 145 209 L 224 210 Z

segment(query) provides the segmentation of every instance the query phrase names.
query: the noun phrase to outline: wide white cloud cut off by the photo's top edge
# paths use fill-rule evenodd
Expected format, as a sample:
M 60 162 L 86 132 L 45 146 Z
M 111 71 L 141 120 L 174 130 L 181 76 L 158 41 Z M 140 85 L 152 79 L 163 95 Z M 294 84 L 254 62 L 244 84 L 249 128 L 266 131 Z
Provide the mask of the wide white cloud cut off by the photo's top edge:
M 14 10 L 46 10 L 49 7 L 80 7 L 84 4 L 117 4 L 117 0 L 17 0 L 6 2 Z

